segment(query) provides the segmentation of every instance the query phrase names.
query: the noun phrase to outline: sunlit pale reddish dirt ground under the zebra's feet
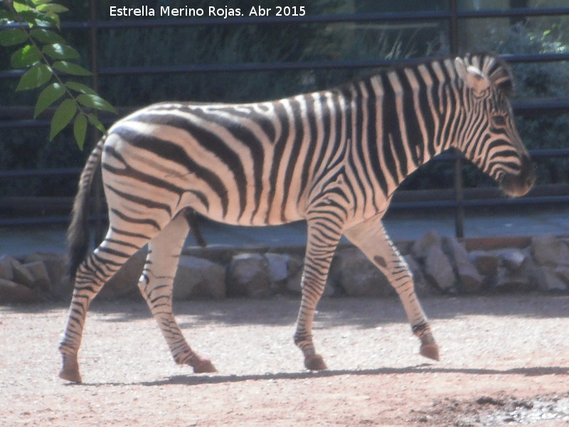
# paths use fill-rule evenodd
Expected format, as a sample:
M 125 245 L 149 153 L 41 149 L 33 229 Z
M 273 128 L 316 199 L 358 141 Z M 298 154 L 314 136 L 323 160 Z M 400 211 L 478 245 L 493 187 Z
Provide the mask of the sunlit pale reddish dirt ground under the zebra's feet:
M 322 300 L 317 349 L 292 344 L 298 301 L 183 302 L 177 318 L 219 374 L 171 360 L 141 302 L 95 301 L 84 384 L 57 376 L 67 307 L 0 307 L 0 426 L 569 425 L 569 297 L 423 300 L 441 361 L 418 355 L 397 300 Z

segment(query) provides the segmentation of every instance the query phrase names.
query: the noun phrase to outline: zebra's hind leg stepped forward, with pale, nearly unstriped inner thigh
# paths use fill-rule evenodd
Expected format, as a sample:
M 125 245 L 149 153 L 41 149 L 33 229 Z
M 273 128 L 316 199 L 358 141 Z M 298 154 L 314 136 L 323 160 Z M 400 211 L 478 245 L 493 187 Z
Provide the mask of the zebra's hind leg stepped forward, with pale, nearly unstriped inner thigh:
M 188 231 L 188 221 L 181 213 L 151 239 L 138 285 L 168 343 L 174 361 L 177 364 L 189 364 L 196 373 L 216 372 L 208 359 L 190 348 L 172 310 L 174 277 Z

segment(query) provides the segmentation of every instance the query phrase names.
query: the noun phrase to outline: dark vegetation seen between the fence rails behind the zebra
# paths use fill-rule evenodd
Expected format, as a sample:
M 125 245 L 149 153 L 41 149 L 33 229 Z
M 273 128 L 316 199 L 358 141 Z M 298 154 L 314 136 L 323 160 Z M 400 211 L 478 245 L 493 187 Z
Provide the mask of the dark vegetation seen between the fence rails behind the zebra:
M 86 21 L 88 1 L 60 0 L 70 8 L 62 16 L 65 22 Z M 98 16 L 111 20 L 111 4 L 122 6 L 132 2 L 100 0 Z M 228 7 L 248 9 L 255 0 L 217 2 Z M 355 11 L 385 11 L 381 2 L 367 2 Z M 144 4 L 158 8 L 186 6 L 187 1 L 147 0 Z M 195 0 L 192 7 L 215 5 L 214 0 Z M 265 7 L 281 4 L 278 0 L 263 2 Z M 287 1 L 289 6 L 305 5 L 305 1 Z M 311 2 L 309 14 L 332 14 L 345 11 L 344 1 Z M 378 4 L 378 9 L 370 9 Z M 432 3 L 437 9 L 446 2 Z M 363 7 L 363 9 L 361 9 Z M 380 7 L 383 9 L 380 10 Z M 360 10 L 361 9 L 361 10 Z M 365 9 L 365 10 L 364 10 Z M 125 18 L 115 18 L 122 19 Z M 566 17 L 526 19 L 515 25 L 489 25 L 479 38 L 478 50 L 499 53 L 567 52 L 569 33 Z M 422 57 L 448 53 L 448 28 L 445 22 L 420 26 L 400 23 L 279 23 L 270 25 L 161 26 L 157 28 L 105 28 L 99 31 L 101 68 L 129 66 L 161 66 L 188 64 L 270 63 L 312 60 L 366 60 L 378 58 Z M 63 36 L 78 49 L 80 61 L 90 67 L 88 33 L 83 28 L 66 28 Z M 0 69 L 9 69 L 9 55 L 0 53 Z M 569 95 L 569 68 L 566 63 L 515 64 L 518 97 L 551 97 Z M 100 78 L 99 93 L 116 107 L 139 107 L 162 100 L 254 101 L 327 88 L 369 69 L 281 70 L 254 73 L 162 73 L 154 75 Z M 1 79 L 0 96 L 4 105 L 33 105 L 34 94 L 14 93 L 17 80 Z M 85 83 L 89 83 L 86 79 Z M 569 135 L 567 115 L 518 117 L 521 135 L 528 147 L 563 147 Z M 4 128 L 0 135 L 0 169 L 36 169 L 82 167 L 89 151 L 81 152 L 70 133 L 63 132 L 48 142 L 48 127 Z M 564 135 L 564 137 L 560 137 Z M 547 159 L 539 163 L 540 184 L 569 181 L 569 165 L 563 159 Z M 452 164 L 435 163 L 422 168 L 405 182 L 407 189 L 452 186 Z M 464 172 L 467 186 L 489 184 L 474 169 Z M 0 196 L 72 196 L 75 179 L 53 177 L 10 181 L 0 186 Z

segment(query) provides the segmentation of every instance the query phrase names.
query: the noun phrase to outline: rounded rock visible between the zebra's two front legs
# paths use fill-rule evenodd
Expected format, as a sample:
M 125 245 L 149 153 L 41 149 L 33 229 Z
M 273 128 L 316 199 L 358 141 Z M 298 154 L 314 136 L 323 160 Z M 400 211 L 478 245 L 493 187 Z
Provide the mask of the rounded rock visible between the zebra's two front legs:
M 395 293 L 385 275 L 357 248 L 336 254 L 331 278 L 352 297 L 385 297 Z

